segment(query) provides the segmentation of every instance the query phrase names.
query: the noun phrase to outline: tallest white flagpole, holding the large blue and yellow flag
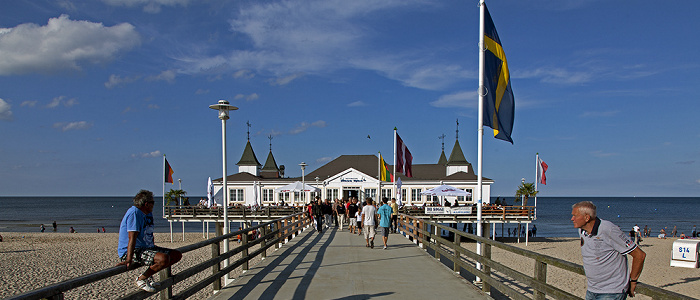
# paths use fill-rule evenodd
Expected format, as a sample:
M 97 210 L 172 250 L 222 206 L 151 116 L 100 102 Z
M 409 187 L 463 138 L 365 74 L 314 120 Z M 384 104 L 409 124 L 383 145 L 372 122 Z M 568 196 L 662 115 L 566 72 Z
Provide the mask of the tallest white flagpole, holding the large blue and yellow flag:
M 484 96 L 486 96 L 486 91 L 484 87 L 484 15 L 485 15 L 485 3 L 484 0 L 479 0 L 479 129 L 477 131 L 477 204 L 476 204 L 476 235 L 483 236 L 481 227 L 481 206 L 483 202 L 483 162 L 484 162 Z M 476 254 L 481 255 L 481 242 L 476 242 Z M 481 270 L 481 264 L 477 263 L 476 268 Z M 481 278 L 476 277 L 477 282 L 481 282 Z

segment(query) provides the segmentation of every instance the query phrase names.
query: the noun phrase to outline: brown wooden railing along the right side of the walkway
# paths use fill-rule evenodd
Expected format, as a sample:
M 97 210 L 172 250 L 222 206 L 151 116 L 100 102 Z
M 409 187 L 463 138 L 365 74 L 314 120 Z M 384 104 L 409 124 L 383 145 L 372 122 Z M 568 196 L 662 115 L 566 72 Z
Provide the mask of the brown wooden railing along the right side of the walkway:
M 484 223 L 483 226 L 483 232 L 488 233 L 489 224 Z M 474 276 L 479 277 L 482 280 L 482 290 L 484 292 L 491 292 L 491 288 L 494 288 L 511 299 L 539 300 L 545 299 L 545 297 L 550 297 L 553 299 L 582 299 L 581 297 L 575 296 L 547 283 L 548 266 L 556 267 L 579 275 L 585 275 L 583 266 L 581 265 L 465 233 L 448 226 L 443 226 L 435 222 L 430 222 L 425 219 L 406 214 L 399 215 L 399 227 L 400 231 L 403 231 L 404 235 L 412 239 L 421 248 L 432 249 L 436 259 L 446 258 L 447 260 L 452 261 L 455 272 L 460 272 L 460 269 L 463 268 Z M 454 241 L 443 238 L 440 235 L 441 230 L 446 230 L 453 233 L 455 237 Z M 481 255 L 462 247 L 462 238 L 481 242 Z M 491 247 L 497 247 L 523 257 L 534 259 L 534 275 L 530 276 L 518 272 L 492 260 Z M 482 265 L 481 270 L 475 267 L 476 263 Z M 511 286 L 503 283 L 500 279 L 493 277 L 491 275 L 492 270 L 510 277 L 514 281 L 522 283 L 525 286 L 531 287 L 532 295 L 523 294 L 522 292 L 517 291 Z M 637 289 L 635 292 L 637 294 L 649 296 L 652 299 L 695 299 L 641 282 L 637 284 Z

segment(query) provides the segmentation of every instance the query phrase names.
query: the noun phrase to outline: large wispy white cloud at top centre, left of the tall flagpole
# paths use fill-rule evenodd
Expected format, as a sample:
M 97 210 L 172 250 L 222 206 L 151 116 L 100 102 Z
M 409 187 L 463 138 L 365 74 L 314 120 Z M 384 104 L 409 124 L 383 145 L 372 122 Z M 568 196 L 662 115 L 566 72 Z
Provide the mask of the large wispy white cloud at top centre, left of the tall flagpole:
M 393 47 L 378 45 L 373 42 L 381 38 L 377 30 L 358 21 L 385 20 L 387 14 L 399 14 L 402 9 L 425 10 L 436 4 L 423 0 L 250 3 L 229 23 L 236 36 L 247 38 L 251 48 L 180 58 L 189 64 L 187 72 L 235 68 L 234 78 L 249 78 L 255 72 L 277 78 L 270 81 L 272 85 L 285 85 L 300 74 L 330 76 L 340 69 L 360 69 L 421 89 L 442 89 L 476 78 L 474 71 L 440 62 L 441 50 L 436 53 L 434 47 L 404 47 L 408 50 L 397 53 Z

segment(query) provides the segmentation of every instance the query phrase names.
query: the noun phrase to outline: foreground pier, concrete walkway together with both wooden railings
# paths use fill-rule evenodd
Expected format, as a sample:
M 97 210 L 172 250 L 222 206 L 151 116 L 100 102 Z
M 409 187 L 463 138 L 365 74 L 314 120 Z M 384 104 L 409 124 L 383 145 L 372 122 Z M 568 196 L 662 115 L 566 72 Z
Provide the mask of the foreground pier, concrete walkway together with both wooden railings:
M 178 248 L 206 251 L 204 259 L 183 265 L 173 272 L 165 269 L 156 276 L 157 295 L 132 287 L 114 290 L 109 298 L 146 299 L 369 299 L 406 298 L 489 299 L 581 299 L 566 287 L 547 280 L 548 272 L 584 274 L 583 267 L 479 237 L 441 223 L 405 213 L 399 215 L 399 234 L 389 237 L 383 250 L 381 237 L 375 248 L 364 246 L 364 238 L 333 228 L 314 232 L 312 222 L 299 212 L 215 238 Z M 490 223 L 484 224 L 488 235 Z M 449 232 L 449 236 L 442 232 Z M 222 243 L 240 236 L 228 252 Z M 477 246 L 478 245 L 478 246 Z M 476 247 L 480 251 L 474 251 Z M 520 272 L 491 258 L 492 248 L 508 251 L 534 262 Z M 477 254 L 479 253 L 479 254 Z M 251 264 L 251 261 L 261 261 Z M 550 271 L 553 270 L 553 271 Z M 235 272 L 234 272 L 235 271 Z M 129 272 L 115 266 L 72 278 L 7 299 L 64 299 L 74 289 L 99 284 L 112 276 Z M 237 277 L 225 279 L 227 274 Z M 478 282 L 474 283 L 474 278 Z M 640 282 L 637 294 L 653 299 L 693 299 Z M 499 298 L 499 299 L 500 299 Z

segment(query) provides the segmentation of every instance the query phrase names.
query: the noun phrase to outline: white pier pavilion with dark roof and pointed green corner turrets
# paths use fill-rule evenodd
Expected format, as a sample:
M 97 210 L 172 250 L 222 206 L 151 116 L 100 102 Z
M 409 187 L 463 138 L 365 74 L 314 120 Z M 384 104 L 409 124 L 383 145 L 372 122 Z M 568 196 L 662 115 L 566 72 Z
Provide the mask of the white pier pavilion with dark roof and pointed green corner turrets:
M 250 141 L 237 163 L 239 172 L 227 177 L 227 191 L 230 205 L 304 205 L 316 195 L 322 199 L 348 199 L 357 197 L 365 199 L 371 197 L 399 198 L 404 205 L 432 204 L 437 197 L 421 195 L 421 192 L 446 184 L 470 192 L 473 196 L 448 197 L 452 203 L 458 201 L 460 205 L 472 204 L 478 198 L 477 176 L 472 165 L 466 160 L 459 140 L 455 142 L 449 159 L 445 161 L 444 151 L 436 164 L 414 164 L 413 177 L 396 173 L 401 179 L 399 189 L 395 182 L 379 180 L 379 156 L 378 155 L 341 155 L 316 170 L 301 177 L 284 177 L 284 166 L 278 166 L 272 150 L 268 154 L 265 165 L 262 166 L 253 151 Z M 389 170 L 393 166 L 389 165 Z M 304 183 L 317 187 L 320 192 L 276 192 L 275 189 L 293 183 Z M 213 180 L 215 201 L 223 203 L 222 178 Z M 484 203 L 490 202 L 491 184 L 493 180 L 482 179 L 482 199 Z

